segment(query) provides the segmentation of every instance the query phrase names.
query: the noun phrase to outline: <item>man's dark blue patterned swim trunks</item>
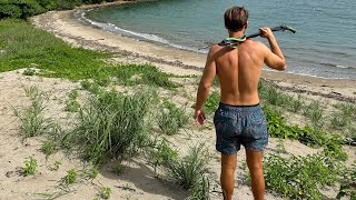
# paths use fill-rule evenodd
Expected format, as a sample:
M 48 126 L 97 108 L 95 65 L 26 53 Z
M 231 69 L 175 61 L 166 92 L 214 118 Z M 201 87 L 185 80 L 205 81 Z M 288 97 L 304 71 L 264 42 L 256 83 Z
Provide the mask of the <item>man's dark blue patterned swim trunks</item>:
M 229 106 L 221 103 L 214 116 L 216 150 L 230 156 L 240 144 L 253 151 L 263 151 L 268 143 L 265 114 L 259 104 Z

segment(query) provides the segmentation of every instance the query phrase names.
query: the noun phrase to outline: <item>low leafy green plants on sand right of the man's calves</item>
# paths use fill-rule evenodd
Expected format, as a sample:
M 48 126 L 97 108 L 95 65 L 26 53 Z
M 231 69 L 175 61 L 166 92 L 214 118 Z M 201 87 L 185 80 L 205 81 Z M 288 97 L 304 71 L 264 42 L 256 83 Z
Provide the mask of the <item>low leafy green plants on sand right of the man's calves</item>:
M 264 161 L 267 189 L 291 199 L 324 199 L 320 187 L 338 181 L 339 162 L 324 156 L 269 156 Z

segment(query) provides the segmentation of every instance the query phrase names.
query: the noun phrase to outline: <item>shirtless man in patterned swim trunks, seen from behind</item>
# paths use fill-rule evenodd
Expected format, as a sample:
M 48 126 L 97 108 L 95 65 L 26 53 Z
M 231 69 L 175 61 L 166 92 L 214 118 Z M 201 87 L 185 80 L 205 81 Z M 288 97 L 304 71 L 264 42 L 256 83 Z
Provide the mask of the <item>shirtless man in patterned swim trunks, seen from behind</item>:
M 241 38 L 247 29 L 248 11 L 233 7 L 225 12 L 225 27 L 229 38 Z M 285 70 L 285 58 L 270 28 L 260 28 L 270 49 L 259 41 L 246 40 L 238 48 L 212 46 L 207 57 L 196 102 L 195 119 L 202 124 L 201 110 L 217 74 L 220 81 L 220 104 L 214 117 L 216 149 L 221 152 L 221 188 L 225 200 L 234 192 L 234 174 L 237 152 L 246 149 L 247 166 L 251 176 L 251 189 L 256 200 L 265 196 L 263 151 L 268 143 L 266 118 L 259 106 L 258 80 L 264 63 L 276 70 Z

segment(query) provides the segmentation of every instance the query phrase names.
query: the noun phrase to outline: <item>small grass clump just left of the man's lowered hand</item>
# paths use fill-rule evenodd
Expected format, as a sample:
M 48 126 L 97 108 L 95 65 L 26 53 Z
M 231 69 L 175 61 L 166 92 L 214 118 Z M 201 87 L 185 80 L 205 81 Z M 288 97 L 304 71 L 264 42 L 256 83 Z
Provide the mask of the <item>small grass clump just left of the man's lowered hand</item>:
M 165 101 L 161 110 L 158 111 L 158 127 L 168 136 L 178 133 L 179 129 L 187 126 L 188 122 L 189 117 L 186 114 L 186 110 L 172 102 Z

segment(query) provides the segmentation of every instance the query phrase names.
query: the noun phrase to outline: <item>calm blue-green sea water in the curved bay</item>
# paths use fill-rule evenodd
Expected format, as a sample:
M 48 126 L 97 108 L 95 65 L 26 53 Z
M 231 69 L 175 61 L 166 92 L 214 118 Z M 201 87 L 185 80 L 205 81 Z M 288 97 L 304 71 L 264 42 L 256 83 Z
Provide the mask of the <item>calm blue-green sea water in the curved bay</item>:
M 231 6 L 249 11 L 247 34 L 264 26 L 297 29 L 295 34 L 275 32 L 287 58 L 287 72 L 356 79 L 355 0 L 157 0 L 79 16 L 121 36 L 206 53 L 207 46 L 227 38 L 222 14 Z

